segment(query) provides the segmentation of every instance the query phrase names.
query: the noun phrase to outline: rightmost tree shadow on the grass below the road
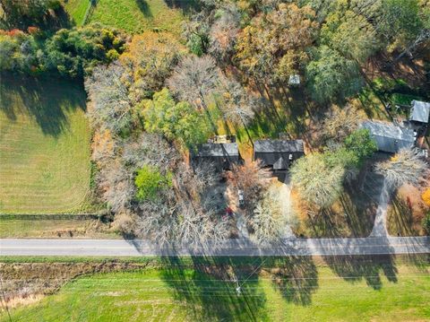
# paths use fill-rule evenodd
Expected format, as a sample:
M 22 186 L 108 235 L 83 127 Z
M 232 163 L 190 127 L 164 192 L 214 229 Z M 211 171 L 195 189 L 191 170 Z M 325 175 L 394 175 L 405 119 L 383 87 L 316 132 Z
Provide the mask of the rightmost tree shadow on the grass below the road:
M 382 276 L 397 283 L 397 265 L 391 255 L 323 257 L 331 270 L 348 283 L 365 280 L 374 290 L 383 288 Z

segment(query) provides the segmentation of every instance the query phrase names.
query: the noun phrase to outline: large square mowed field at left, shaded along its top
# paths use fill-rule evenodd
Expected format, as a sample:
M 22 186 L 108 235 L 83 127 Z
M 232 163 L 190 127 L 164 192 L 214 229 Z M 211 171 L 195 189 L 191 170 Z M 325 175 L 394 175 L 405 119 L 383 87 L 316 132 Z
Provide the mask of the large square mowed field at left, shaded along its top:
M 90 189 L 90 127 L 76 83 L 0 83 L 0 213 L 78 212 Z

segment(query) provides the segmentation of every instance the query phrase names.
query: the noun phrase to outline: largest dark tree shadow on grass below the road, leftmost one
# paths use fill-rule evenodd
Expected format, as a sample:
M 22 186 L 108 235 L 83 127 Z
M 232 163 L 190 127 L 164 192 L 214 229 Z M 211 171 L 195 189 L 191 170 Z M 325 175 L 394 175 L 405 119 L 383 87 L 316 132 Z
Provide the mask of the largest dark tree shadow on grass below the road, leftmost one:
M 197 321 L 266 319 L 266 299 L 254 265 L 236 265 L 229 257 L 163 257 L 163 262 L 163 279 Z

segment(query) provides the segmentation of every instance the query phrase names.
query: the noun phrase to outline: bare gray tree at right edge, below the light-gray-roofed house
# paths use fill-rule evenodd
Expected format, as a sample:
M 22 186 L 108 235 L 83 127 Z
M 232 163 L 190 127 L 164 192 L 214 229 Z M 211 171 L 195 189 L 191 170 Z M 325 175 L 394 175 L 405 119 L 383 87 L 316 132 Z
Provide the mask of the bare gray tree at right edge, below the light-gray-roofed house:
M 376 172 L 383 175 L 391 189 L 404 184 L 417 185 L 420 179 L 426 178 L 428 164 L 415 149 L 401 149 L 389 161 L 376 164 Z

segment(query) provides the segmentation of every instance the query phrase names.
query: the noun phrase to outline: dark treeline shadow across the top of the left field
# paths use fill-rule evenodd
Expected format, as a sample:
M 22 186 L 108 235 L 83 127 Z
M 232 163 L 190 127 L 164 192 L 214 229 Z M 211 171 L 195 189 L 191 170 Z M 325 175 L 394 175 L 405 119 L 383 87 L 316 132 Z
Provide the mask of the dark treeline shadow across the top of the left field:
M 0 110 L 14 121 L 29 114 L 45 135 L 57 137 L 69 126 L 68 111 L 86 109 L 79 84 L 56 78 L 1 74 Z

